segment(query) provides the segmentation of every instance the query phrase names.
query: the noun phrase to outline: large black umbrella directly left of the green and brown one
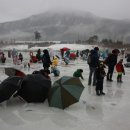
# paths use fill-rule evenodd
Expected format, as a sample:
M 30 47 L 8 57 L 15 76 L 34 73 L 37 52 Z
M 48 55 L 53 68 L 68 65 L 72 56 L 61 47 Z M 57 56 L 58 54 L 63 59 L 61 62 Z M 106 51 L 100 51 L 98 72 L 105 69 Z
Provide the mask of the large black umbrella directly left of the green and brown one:
M 44 102 L 48 97 L 51 81 L 42 74 L 30 74 L 23 78 L 18 95 L 27 102 Z

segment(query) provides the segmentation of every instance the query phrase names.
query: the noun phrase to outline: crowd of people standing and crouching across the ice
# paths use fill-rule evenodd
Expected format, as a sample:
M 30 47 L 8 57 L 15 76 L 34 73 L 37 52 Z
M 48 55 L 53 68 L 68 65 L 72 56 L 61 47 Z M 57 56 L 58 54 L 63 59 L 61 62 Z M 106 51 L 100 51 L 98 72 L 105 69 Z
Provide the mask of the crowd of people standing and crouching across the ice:
M 108 82 L 113 81 L 113 72 L 114 68 L 116 68 L 117 71 L 117 82 L 123 82 L 122 81 L 122 74 L 125 75 L 125 69 L 123 66 L 123 59 L 119 59 L 118 62 L 118 54 L 119 50 L 114 49 L 112 52 L 108 53 L 108 49 L 104 53 L 99 53 L 100 49 L 98 47 L 94 47 L 92 50 L 86 49 L 83 51 L 77 50 L 74 55 L 74 60 L 76 58 L 81 57 L 83 60 L 87 61 L 89 66 L 89 75 L 88 75 L 88 85 L 89 86 L 95 86 L 96 95 L 105 95 L 105 92 L 103 91 L 103 82 L 104 77 L 106 76 L 106 80 Z M 43 69 L 40 71 L 34 71 L 33 74 L 42 73 L 46 78 L 50 79 L 49 74 L 53 73 L 54 76 L 60 75 L 60 70 L 58 68 L 59 59 L 62 59 L 62 61 L 65 63 L 65 65 L 68 65 L 71 57 L 71 51 L 70 49 L 60 50 L 61 56 L 53 55 L 50 57 L 50 53 L 48 49 L 44 49 L 41 51 L 40 49 L 37 50 L 36 55 L 33 54 L 33 51 L 30 51 L 30 60 L 27 62 L 28 67 L 30 67 L 30 63 L 42 63 Z M 0 53 L 0 59 L 4 57 L 4 53 Z M 18 51 L 14 48 L 11 51 L 8 51 L 8 57 L 12 57 L 13 63 L 16 64 L 22 64 L 24 57 L 22 53 L 18 53 Z M 102 59 L 100 58 L 102 57 Z M 5 58 L 6 60 L 6 58 Z M 3 62 L 2 62 L 3 63 Z M 87 64 L 86 64 L 87 66 Z M 105 72 L 105 68 L 108 68 L 108 71 Z M 73 77 L 78 77 L 84 80 L 83 77 L 83 69 L 77 69 L 73 72 Z M 84 72 L 85 73 L 85 72 Z

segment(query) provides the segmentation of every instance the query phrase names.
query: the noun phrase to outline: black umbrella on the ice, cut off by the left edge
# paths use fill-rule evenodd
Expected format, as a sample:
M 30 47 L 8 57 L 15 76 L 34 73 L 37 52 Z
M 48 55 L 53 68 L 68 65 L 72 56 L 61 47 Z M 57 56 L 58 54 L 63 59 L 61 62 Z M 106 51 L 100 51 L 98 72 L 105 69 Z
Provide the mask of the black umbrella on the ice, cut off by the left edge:
M 16 91 L 20 89 L 22 77 L 12 76 L 5 79 L 0 84 L 0 103 L 8 100 Z

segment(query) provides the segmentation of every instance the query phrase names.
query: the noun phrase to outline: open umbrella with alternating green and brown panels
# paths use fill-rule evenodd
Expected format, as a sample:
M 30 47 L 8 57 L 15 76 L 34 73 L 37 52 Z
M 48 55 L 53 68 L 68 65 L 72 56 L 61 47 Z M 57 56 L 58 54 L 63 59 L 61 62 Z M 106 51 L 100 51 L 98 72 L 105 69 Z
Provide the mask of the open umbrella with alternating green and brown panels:
M 84 89 L 79 78 L 63 76 L 55 81 L 49 93 L 49 106 L 65 109 L 79 101 Z

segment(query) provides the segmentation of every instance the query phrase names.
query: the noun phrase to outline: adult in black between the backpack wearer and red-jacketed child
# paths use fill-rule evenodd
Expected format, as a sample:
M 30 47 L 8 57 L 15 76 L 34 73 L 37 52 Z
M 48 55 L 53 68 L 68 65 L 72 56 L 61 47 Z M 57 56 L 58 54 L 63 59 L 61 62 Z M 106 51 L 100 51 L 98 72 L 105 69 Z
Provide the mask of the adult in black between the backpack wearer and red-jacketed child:
M 109 54 L 109 56 L 105 60 L 105 64 L 108 66 L 107 81 L 113 81 L 112 76 L 114 72 L 114 67 L 117 64 L 117 56 L 118 53 L 113 50 L 112 54 Z

